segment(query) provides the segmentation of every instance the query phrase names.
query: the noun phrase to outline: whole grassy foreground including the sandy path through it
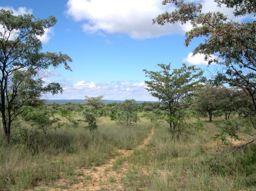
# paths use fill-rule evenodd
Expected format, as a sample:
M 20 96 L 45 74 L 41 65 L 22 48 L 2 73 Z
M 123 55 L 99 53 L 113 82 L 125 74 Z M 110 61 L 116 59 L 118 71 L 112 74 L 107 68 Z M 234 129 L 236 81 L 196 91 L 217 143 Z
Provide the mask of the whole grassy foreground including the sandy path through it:
M 86 124 L 51 131 L 34 153 L 24 145 L 1 145 L 0 190 L 256 190 L 256 145 L 221 154 L 231 145 L 216 154 L 214 123 L 180 138 L 168 125 L 153 127 L 143 118 L 134 127 L 107 117 L 98 124 L 96 131 Z

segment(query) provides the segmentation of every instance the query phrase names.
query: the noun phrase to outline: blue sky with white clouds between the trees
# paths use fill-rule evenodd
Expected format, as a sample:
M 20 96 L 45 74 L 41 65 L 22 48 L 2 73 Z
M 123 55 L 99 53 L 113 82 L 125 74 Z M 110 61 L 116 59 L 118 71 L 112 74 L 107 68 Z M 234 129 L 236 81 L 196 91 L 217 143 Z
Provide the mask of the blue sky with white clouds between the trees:
M 197 0 L 198 1 L 198 0 Z M 200 0 L 203 12 L 221 11 L 232 18 L 232 9 L 217 7 L 214 0 Z M 158 71 L 157 64 L 196 65 L 210 77 L 220 67 L 207 65 L 203 55 L 192 57 L 202 39 L 186 47 L 185 32 L 190 25 L 153 25 L 152 19 L 172 5 L 162 0 L 0 0 L 1 9 L 14 14 L 50 15 L 57 24 L 38 37 L 44 52 L 67 53 L 73 60 L 72 72 L 64 67 L 49 68 L 46 83 L 58 82 L 63 93 L 46 99 L 83 99 L 105 95 L 105 99 L 155 101 L 147 90 L 142 71 Z

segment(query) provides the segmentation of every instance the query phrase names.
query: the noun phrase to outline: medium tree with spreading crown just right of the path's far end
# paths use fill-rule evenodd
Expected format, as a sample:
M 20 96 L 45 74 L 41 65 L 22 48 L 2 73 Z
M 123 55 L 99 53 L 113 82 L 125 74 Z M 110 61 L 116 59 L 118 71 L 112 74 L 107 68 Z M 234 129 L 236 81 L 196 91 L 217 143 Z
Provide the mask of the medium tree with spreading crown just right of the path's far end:
M 168 121 L 170 128 L 175 130 L 180 117 L 184 116 L 181 112 L 181 103 L 192 95 L 200 82 L 204 81 L 203 72 L 195 66 L 186 66 L 186 64 L 179 69 L 173 69 L 172 72 L 171 64 L 158 64 L 158 66 L 162 71 L 144 70 L 146 77 L 151 79 L 145 81 L 148 85 L 146 89 L 152 96 L 168 105 Z

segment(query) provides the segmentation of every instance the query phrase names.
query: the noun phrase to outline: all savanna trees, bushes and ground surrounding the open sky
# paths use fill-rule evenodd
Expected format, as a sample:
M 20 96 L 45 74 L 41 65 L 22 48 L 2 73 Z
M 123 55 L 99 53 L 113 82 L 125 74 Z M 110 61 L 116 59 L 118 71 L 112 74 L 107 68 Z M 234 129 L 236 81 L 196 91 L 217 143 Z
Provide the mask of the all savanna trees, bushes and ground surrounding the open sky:
M 256 15 L 253 1 L 215 1 L 234 16 Z M 145 69 L 146 90 L 159 102 L 141 104 L 105 105 L 104 96 L 45 104 L 43 94 L 62 88 L 46 84 L 44 72 L 70 70 L 67 54 L 42 53 L 37 39 L 56 19 L 0 10 L 1 191 L 256 190 L 256 22 L 202 13 L 198 2 L 168 3 L 177 9 L 153 22 L 190 23 L 186 46 L 203 37 L 193 53 L 224 71 L 206 79 L 186 64 Z

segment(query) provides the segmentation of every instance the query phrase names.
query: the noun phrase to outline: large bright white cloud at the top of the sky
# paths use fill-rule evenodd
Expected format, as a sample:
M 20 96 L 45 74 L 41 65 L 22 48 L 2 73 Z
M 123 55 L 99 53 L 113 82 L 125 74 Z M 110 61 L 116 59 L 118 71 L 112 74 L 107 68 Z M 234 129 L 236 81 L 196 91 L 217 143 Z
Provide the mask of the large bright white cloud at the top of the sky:
M 189 0 L 197 1 L 198 0 Z M 221 11 L 233 17 L 233 9 L 218 7 L 214 0 L 200 0 L 203 12 Z M 191 24 L 152 25 L 152 19 L 175 6 L 162 6 L 162 0 L 68 0 L 67 14 L 75 21 L 85 21 L 82 29 L 86 33 L 124 33 L 134 39 L 160 37 L 189 31 Z M 232 18 L 241 21 L 241 18 Z

